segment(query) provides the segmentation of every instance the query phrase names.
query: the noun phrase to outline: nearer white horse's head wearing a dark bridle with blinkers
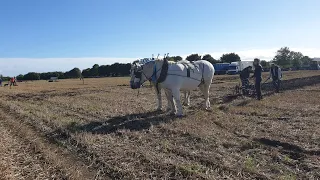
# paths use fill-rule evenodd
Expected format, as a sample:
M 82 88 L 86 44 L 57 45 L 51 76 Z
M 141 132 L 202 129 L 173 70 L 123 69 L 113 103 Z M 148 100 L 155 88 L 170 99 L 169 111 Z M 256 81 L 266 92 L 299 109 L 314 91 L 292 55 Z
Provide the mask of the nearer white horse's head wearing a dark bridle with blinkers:
M 138 89 L 147 80 L 151 80 L 153 75 L 154 61 L 135 61 L 131 64 L 130 87 Z

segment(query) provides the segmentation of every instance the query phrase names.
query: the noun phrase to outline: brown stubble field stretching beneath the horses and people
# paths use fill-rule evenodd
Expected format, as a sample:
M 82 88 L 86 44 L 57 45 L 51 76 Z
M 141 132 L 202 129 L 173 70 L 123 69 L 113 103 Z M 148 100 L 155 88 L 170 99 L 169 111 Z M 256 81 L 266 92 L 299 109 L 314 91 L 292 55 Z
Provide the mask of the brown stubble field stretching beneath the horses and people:
M 2 87 L 0 179 L 320 179 L 320 72 L 284 78 L 256 101 L 215 76 L 211 111 L 193 91 L 183 118 L 128 78 Z

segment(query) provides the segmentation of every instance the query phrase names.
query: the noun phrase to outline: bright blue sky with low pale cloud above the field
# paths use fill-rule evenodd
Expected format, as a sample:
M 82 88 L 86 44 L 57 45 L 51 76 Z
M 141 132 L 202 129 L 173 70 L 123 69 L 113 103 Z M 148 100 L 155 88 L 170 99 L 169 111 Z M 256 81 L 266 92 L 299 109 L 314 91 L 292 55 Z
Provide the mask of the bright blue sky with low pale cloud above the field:
M 270 59 L 289 46 L 320 56 L 319 7 L 319 0 L 1 0 L 0 73 L 167 52 Z

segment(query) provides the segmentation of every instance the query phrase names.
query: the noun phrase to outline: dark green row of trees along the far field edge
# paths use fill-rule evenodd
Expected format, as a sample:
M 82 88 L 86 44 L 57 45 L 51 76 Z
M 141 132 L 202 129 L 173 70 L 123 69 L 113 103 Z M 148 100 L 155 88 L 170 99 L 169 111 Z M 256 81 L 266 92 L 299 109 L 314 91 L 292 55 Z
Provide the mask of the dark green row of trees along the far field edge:
M 236 61 L 241 61 L 241 58 L 238 54 L 226 53 L 223 54 L 219 59 L 213 58 L 210 54 L 205 54 L 203 56 L 199 54 L 190 54 L 186 57 L 186 60 L 192 62 L 197 60 L 207 60 L 212 64 L 216 63 L 231 63 Z M 169 57 L 169 61 L 180 61 L 183 60 L 181 56 L 172 56 Z M 276 63 L 282 68 L 294 68 L 294 69 L 306 69 L 315 65 L 315 62 L 312 61 L 308 56 L 304 56 L 301 52 L 291 51 L 288 47 L 282 47 L 277 52 L 275 57 L 272 60 L 266 61 L 261 60 L 261 65 L 264 68 L 269 68 L 270 63 Z M 101 65 L 94 64 L 92 68 L 87 68 L 80 70 L 75 67 L 70 71 L 61 72 L 29 72 L 25 75 L 18 75 L 16 78 L 18 80 L 48 80 L 51 77 L 58 77 L 59 79 L 70 79 L 70 78 L 91 78 L 91 77 L 118 77 L 118 76 L 129 76 L 130 75 L 130 63 L 114 63 L 112 65 Z M 8 80 L 10 77 L 2 77 L 3 80 Z

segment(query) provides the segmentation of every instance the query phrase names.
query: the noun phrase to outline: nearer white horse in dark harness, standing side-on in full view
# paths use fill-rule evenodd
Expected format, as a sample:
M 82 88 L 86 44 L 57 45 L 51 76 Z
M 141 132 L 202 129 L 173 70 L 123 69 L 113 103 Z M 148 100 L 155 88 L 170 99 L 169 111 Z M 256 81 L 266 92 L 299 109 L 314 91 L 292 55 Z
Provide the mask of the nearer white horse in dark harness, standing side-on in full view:
M 155 79 L 158 79 L 164 62 L 165 61 L 163 60 L 154 60 L 141 65 L 139 70 L 132 72 L 134 76 L 131 76 L 131 87 L 133 89 L 140 88 L 141 84 L 145 81 L 151 80 L 154 77 Z M 185 64 L 188 64 L 189 67 L 193 68 L 190 70 Z M 180 90 L 190 92 L 198 87 L 204 94 L 205 108 L 209 109 L 209 89 L 214 76 L 214 71 L 213 65 L 206 60 L 199 60 L 193 63 L 187 63 L 187 61 L 169 63 L 167 77 L 161 83 L 161 87 L 166 91 L 168 104 L 172 107 L 172 113 L 176 113 L 177 116 L 183 115 Z M 177 108 L 170 95 L 173 95 Z

